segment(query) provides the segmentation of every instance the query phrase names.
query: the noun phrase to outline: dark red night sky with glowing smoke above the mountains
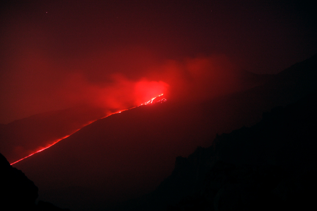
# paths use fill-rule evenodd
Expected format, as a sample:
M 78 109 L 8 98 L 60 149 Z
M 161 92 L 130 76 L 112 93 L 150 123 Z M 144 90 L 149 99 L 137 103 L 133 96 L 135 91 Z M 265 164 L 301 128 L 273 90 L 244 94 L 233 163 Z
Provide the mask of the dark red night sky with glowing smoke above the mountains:
M 0 4 L 0 123 L 83 103 L 136 106 L 232 70 L 278 73 L 317 51 L 306 0 Z

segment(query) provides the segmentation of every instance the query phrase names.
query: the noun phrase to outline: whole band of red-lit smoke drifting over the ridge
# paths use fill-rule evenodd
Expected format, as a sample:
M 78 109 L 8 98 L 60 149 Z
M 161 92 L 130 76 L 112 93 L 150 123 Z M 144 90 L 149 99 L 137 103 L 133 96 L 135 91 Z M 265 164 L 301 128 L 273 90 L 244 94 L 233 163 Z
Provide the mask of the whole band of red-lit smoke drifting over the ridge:
M 68 62 L 32 52 L 17 57 L 1 78 L 1 123 L 78 105 L 116 112 L 161 93 L 169 100 L 199 100 L 241 88 L 236 67 L 224 55 L 162 60 L 141 48 L 110 55 Z

